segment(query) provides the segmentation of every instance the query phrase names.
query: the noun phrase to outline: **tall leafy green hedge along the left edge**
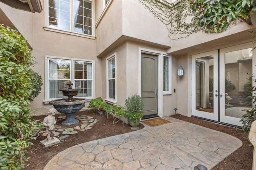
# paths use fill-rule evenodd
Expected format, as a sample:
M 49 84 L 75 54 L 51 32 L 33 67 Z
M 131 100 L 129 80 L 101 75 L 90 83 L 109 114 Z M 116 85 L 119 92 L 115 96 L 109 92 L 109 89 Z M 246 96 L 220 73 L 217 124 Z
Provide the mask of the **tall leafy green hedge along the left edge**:
M 0 25 L 0 170 L 21 169 L 31 145 L 35 121 L 29 104 L 38 96 L 42 78 L 26 39 Z

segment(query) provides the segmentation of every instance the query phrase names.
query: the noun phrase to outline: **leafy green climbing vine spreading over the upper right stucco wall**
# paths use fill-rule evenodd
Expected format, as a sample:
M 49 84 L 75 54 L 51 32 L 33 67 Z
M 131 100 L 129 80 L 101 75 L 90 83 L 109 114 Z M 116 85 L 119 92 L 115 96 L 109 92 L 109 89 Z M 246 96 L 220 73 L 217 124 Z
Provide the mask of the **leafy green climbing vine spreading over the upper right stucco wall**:
M 256 11 L 255 0 L 139 0 L 164 23 L 171 39 L 197 31 L 220 33 Z M 192 19 L 191 19 L 192 18 Z M 171 36 L 174 35 L 174 36 Z

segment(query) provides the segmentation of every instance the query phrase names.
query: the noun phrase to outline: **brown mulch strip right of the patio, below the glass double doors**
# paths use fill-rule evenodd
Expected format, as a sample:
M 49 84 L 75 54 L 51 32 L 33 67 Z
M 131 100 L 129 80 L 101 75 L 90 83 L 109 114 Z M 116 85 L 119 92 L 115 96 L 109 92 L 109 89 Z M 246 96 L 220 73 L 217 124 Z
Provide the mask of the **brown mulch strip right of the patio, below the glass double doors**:
M 242 147 L 216 165 L 212 170 L 251 170 L 252 169 L 252 158 L 253 158 L 253 147 L 249 147 L 250 142 L 247 139 L 246 134 L 241 129 L 234 127 L 228 127 L 226 125 L 220 125 L 212 123 L 195 117 L 186 117 L 180 114 L 172 115 L 176 119 L 194 123 L 209 129 L 214 129 L 223 133 L 232 135 L 240 139 L 243 143 Z

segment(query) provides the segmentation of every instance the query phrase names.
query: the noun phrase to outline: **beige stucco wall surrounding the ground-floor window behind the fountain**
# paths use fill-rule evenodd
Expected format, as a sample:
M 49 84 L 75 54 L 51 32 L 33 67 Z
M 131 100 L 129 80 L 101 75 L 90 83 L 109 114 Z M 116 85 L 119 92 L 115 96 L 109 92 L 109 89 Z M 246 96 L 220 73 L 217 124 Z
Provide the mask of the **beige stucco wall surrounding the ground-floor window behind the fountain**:
M 42 6 L 44 4 L 41 1 Z M 43 6 L 44 8 L 44 6 Z M 74 35 L 68 35 L 65 33 L 58 33 L 54 31 L 44 30 L 44 10 L 41 13 L 34 14 L 33 20 L 34 31 L 33 35 L 33 55 L 36 60 L 36 65 L 33 69 L 43 78 L 44 85 L 42 86 L 42 92 L 34 102 L 31 104 L 32 109 L 38 108 L 51 108 L 53 106 L 44 104 L 46 99 L 44 91 L 45 87 L 45 66 L 44 56 L 56 56 L 56 57 L 68 57 L 76 59 L 88 59 L 95 61 L 95 97 L 101 96 L 101 63 L 100 59 L 96 58 L 96 40 L 85 37 L 79 37 Z

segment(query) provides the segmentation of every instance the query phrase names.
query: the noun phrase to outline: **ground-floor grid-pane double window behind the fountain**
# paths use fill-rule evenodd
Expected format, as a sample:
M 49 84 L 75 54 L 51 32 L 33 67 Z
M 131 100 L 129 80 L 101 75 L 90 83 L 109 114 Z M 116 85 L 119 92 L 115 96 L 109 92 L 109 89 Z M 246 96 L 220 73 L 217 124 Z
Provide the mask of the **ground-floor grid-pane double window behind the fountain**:
M 67 88 L 66 83 L 71 81 L 73 88 L 80 88 L 75 97 L 93 97 L 93 68 L 94 61 L 81 59 L 47 57 L 47 100 L 64 98 L 58 89 Z

